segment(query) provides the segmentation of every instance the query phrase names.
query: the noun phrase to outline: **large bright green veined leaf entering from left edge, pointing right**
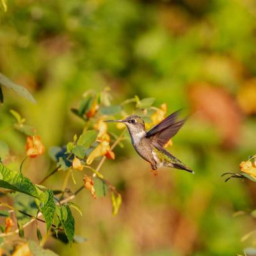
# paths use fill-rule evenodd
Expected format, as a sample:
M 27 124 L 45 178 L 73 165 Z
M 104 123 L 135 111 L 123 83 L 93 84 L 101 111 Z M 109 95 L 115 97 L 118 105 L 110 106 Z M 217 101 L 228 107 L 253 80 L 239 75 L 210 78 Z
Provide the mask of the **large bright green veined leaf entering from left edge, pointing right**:
M 0 163 L 0 175 L 0 188 L 12 189 L 40 199 L 35 185 L 22 173 L 11 171 Z

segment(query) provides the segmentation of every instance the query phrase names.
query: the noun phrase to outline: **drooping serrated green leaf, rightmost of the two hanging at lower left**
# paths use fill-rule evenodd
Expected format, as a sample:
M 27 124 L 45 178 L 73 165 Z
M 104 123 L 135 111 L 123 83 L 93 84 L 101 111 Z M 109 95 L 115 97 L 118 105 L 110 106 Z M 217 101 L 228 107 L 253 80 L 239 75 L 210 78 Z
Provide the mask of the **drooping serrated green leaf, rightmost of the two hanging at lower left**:
M 58 207 L 56 207 L 56 214 L 68 238 L 68 242 L 71 245 L 75 232 L 75 220 L 72 216 L 72 212 L 68 205 L 58 205 Z

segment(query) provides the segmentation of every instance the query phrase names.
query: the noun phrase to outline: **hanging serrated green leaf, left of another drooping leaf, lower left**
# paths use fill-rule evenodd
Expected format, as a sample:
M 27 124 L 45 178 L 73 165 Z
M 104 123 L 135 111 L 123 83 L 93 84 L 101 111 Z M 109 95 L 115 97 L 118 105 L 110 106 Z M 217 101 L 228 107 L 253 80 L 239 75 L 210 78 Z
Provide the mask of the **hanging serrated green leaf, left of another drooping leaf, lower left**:
M 51 189 L 47 189 L 47 191 L 45 191 L 44 196 L 42 198 L 42 204 L 42 214 L 44 215 L 44 220 L 46 222 L 46 230 L 48 231 L 52 225 L 56 208 Z

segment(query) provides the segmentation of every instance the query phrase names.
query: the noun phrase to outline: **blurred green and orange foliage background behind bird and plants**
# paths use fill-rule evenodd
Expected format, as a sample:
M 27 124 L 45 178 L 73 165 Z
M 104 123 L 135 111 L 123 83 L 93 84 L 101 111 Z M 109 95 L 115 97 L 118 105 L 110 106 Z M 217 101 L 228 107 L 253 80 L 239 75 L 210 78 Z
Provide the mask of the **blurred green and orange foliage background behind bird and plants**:
M 60 255 L 236 255 L 255 229 L 236 211 L 256 207 L 255 185 L 221 178 L 256 154 L 256 2 L 254 0 L 8 0 L 0 13 L 0 71 L 33 93 L 34 106 L 4 90 L 1 131 L 15 109 L 35 126 L 47 149 L 64 145 L 83 122 L 72 115 L 88 89 L 111 88 L 114 102 L 138 95 L 166 102 L 168 113 L 190 113 L 170 151 L 195 175 L 163 168 L 154 177 L 125 141 L 101 172 L 123 196 L 118 216 L 109 198 L 77 196 L 83 216 L 72 248 L 46 245 Z M 0 133 L 12 148 L 10 166 L 24 157 L 26 138 Z M 47 155 L 47 154 L 46 154 Z M 95 161 L 97 164 L 97 161 Z M 34 182 L 49 157 L 26 162 Z M 76 179 L 82 182 L 83 175 Z M 60 188 L 63 173 L 45 186 Z M 78 182 L 78 181 L 77 181 Z M 70 182 L 72 187 L 72 182 Z M 74 187 L 74 186 L 73 186 Z M 35 227 L 34 227 L 35 228 Z M 27 236 L 35 237 L 26 231 Z M 35 238 L 36 239 L 36 238 Z

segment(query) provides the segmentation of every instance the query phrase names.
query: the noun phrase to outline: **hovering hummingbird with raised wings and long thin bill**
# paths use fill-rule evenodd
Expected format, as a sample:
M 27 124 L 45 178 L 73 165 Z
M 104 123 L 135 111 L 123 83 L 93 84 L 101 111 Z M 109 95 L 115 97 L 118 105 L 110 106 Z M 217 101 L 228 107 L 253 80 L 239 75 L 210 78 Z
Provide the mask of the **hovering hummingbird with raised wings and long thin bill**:
M 186 118 L 178 119 L 179 110 L 167 116 L 150 131 L 145 130 L 145 123 L 140 116 L 127 116 L 124 120 L 105 120 L 104 122 L 121 122 L 127 126 L 131 141 L 136 152 L 151 164 L 153 172 L 161 166 L 186 170 L 194 173 L 191 168 L 164 149 L 164 145 L 182 127 Z

